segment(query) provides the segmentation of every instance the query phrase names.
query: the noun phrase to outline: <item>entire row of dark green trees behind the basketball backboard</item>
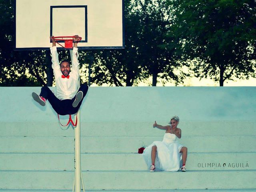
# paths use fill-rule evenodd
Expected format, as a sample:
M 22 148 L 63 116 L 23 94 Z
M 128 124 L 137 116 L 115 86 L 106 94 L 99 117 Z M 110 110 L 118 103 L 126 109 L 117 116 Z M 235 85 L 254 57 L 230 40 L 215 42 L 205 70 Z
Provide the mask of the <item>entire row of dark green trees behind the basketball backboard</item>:
M 134 86 L 152 77 L 255 76 L 255 0 L 125 0 L 125 49 L 79 51 L 82 82 Z M 14 0 L 0 0 L 0 86 L 51 86 L 50 51 L 14 51 Z M 60 58 L 70 56 L 60 51 Z M 90 77 L 88 78 L 88 70 Z M 177 72 L 178 71 L 178 72 Z M 86 77 L 86 78 L 84 78 Z

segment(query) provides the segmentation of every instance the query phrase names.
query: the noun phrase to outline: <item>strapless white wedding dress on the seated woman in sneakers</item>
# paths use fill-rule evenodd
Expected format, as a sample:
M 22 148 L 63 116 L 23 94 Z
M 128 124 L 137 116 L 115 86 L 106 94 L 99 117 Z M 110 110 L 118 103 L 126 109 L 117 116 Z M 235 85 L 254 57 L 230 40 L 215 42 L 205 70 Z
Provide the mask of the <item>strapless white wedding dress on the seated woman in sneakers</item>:
M 148 170 L 152 163 L 152 146 L 157 147 L 155 170 L 178 171 L 180 169 L 180 165 L 182 165 L 182 153 L 180 153 L 180 150 L 183 146 L 178 142 L 178 137 L 175 134 L 165 133 L 163 141 L 154 141 L 150 146 L 144 149 L 142 155 L 148 165 Z

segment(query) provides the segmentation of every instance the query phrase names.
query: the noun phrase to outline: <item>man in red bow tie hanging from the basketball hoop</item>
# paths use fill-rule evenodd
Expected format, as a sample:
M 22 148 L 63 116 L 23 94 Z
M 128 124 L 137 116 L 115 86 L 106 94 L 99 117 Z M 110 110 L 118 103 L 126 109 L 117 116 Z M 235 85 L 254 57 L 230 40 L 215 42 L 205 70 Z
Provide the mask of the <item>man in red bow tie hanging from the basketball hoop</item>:
M 78 36 L 73 36 L 73 52 L 71 56 L 72 71 L 70 63 L 63 60 L 59 63 L 58 52 L 54 37 L 51 36 L 52 47 L 52 68 L 56 81 L 56 96 L 47 87 L 41 88 L 40 95 L 32 93 L 33 99 L 40 105 L 45 106 L 46 100 L 50 102 L 52 108 L 60 115 L 75 114 L 78 112 L 84 96 L 88 91 L 88 85 L 82 84 L 78 89 L 79 84 L 79 62 L 78 62 Z

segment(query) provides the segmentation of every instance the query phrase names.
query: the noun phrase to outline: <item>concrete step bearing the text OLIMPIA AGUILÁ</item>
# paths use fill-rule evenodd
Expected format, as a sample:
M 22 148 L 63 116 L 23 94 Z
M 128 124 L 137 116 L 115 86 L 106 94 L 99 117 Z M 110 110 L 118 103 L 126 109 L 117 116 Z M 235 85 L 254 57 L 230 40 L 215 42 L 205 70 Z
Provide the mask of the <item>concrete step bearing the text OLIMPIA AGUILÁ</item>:
M 0 170 L 74 170 L 74 154 L 0 154 Z M 187 170 L 256 170 L 256 153 L 189 153 Z M 103 162 L 104 161 L 104 162 Z M 82 170 L 147 170 L 141 154 L 81 154 Z

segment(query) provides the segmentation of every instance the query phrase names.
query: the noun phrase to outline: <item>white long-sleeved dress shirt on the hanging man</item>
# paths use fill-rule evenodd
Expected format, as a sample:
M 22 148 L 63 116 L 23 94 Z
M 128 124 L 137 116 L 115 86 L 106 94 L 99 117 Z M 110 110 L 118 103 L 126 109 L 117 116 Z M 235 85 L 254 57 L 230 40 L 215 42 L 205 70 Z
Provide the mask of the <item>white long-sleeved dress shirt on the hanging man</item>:
M 62 72 L 60 70 L 60 62 L 58 58 L 58 52 L 56 46 L 51 47 L 52 54 L 52 69 L 55 76 L 57 93 L 56 97 L 60 100 L 72 99 L 78 91 L 78 79 L 79 79 L 79 62 L 78 62 L 78 48 L 73 47 L 73 51 L 70 51 L 72 70 L 69 73 L 69 78 L 62 78 Z M 77 53 L 77 56 L 76 56 Z

